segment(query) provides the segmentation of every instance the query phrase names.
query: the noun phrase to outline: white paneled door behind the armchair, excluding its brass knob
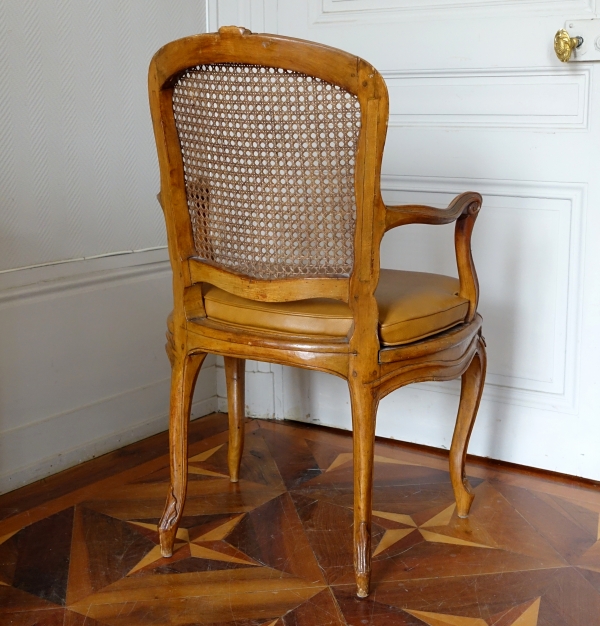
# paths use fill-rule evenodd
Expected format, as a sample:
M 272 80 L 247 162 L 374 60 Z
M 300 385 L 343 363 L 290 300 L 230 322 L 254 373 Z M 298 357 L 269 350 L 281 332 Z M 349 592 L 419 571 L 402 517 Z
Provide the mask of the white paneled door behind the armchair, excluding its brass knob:
M 566 20 L 596 17 L 596 0 L 208 8 L 211 29 L 237 23 L 320 41 L 382 72 L 384 197 L 442 207 L 462 191 L 484 196 L 473 247 L 489 370 L 470 451 L 600 479 L 600 65 L 563 64 L 553 51 Z M 397 229 L 382 266 L 455 275 L 452 245 L 451 227 Z M 278 417 L 350 427 L 343 381 L 271 370 Z M 377 432 L 448 447 L 457 394 L 453 383 L 395 392 Z

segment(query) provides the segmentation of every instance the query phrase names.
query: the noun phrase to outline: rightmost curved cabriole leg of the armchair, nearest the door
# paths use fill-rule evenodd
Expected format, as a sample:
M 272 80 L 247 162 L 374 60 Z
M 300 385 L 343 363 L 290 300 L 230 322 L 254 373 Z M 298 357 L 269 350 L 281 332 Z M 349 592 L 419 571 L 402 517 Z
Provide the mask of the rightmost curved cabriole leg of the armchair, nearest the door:
M 465 475 L 465 462 L 469 439 L 471 438 L 483 391 L 486 363 L 485 343 L 483 337 L 479 337 L 477 351 L 473 356 L 473 360 L 467 371 L 462 375 L 460 405 L 450 447 L 450 479 L 459 517 L 467 517 L 469 515 L 469 510 L 475 497 Z

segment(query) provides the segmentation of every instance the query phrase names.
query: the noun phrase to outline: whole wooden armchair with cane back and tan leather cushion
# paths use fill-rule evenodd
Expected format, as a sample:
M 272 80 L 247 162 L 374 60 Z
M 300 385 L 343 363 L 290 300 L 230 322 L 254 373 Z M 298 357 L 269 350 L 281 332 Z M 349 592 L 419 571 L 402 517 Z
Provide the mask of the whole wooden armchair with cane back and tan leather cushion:
M 450 452 L 457 511 L 473 494 L 467 444 L 485 377 L 471 232 L 481 196 L 447 209 L 386 207 L 388 94 L 366 61 L 238 27 L 167 44 L 149 72 L 174 309 L 171 486 L 160 522 L 173 550 L 187 484 L 187 424 L 207 353 L 225 358 L 229 470 L 243 447 L 244 359 L 348 381 L 357 592 L 369 593 L 375 415 L 409 383 L 462 376 Z M 456 221 L 459 280 L 385 270 L 386 230 Z

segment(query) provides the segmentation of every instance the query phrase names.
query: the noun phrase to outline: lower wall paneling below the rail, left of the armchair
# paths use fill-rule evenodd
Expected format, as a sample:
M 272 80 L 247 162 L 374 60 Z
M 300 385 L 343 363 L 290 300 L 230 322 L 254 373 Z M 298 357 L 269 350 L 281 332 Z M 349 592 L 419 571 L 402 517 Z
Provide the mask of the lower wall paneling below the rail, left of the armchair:
M 0 276 L 0 493 L 167 428 L 165 251 Z M 217 409 L 209 357 L 193 415 Z

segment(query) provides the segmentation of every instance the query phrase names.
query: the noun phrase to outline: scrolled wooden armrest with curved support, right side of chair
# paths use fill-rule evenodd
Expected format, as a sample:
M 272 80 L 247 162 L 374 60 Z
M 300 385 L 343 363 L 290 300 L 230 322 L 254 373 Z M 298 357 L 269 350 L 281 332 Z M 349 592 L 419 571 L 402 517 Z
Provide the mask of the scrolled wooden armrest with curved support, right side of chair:
M 404 224 L 450 224 L 456 221 L 454 248 L 460 281 L 459 295 L 469 301 L 465 322 L 475 319 L 479 302 L 479 282 L 471 254 L 471 233 L 481 209 L 481 202 L 482 198 L 478 193 L 468 191 L 456 196 L 447 209 L 410 204 L 386 207 L 386 230 Z

